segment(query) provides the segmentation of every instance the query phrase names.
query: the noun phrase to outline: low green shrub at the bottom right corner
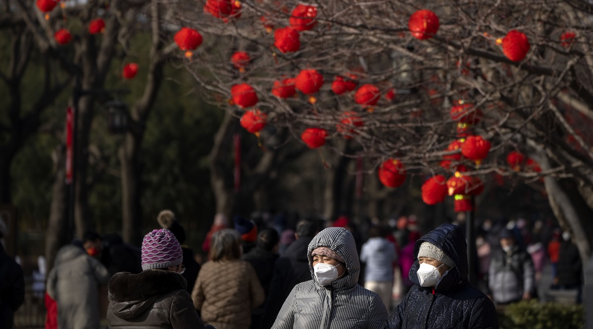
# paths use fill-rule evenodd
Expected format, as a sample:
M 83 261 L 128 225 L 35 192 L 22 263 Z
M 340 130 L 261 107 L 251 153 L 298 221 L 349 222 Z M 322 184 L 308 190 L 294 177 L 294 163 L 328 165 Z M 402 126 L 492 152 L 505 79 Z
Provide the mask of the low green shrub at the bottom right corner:
M 503 329 L 583 329 L 583 305 L 522 301 L 508 305 L 499 314 Z

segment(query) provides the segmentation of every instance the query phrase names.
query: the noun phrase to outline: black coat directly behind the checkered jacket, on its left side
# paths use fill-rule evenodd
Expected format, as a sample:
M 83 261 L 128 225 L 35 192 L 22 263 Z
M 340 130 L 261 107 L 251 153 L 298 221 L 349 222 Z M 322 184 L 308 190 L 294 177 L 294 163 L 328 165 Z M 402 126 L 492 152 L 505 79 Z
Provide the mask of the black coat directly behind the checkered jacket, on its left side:
M 276 260 L 274 274 L 266 294 L 262 329 L 272 327 L 282 304 L 298 283 L 311 280 L 307 250 L 311 237 L 299 237 L 286 249 L 284 256 Z

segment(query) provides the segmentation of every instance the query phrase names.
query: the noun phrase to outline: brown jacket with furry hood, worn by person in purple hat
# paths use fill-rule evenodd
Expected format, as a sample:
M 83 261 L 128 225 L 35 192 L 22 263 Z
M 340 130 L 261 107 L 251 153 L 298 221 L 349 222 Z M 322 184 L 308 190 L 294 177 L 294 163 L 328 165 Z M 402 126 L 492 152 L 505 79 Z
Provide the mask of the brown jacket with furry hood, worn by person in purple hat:
M 186 279 L 167 270 L 120 272 L 109 281 L 109 328 L 203 329 L 185 290 Z

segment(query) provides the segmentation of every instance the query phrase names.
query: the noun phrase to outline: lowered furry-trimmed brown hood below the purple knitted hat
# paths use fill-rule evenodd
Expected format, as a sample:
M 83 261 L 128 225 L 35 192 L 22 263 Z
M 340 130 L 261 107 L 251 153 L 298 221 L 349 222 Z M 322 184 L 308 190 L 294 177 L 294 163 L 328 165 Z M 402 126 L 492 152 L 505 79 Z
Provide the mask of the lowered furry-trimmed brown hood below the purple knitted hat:
M 131 319 L 151 308 L 164 293 L 187 288 L 179 273 L 167 270 L 145 270 L 139 274 L 116 273 L 109 284 L 109 301 L 116 317 Z

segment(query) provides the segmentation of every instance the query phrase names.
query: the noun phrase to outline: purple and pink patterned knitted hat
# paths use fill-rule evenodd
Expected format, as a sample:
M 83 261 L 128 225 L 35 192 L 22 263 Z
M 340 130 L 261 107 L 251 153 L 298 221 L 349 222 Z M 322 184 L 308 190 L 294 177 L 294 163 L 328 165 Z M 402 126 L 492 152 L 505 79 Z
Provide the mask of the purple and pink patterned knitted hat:
M 183 251 L 177 238 L 166 228 L 153 230 L 142 240 L 142 270 L 180 265 Z

